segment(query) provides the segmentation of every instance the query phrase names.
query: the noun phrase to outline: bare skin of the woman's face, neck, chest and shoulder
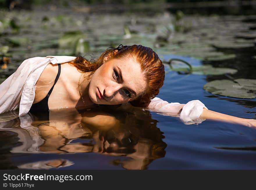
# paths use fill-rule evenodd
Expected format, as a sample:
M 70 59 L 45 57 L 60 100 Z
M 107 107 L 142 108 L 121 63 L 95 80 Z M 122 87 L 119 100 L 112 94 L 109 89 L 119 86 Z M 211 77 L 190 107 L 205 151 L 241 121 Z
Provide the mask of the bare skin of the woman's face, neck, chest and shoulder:
M 120 80 L 118 68 L 122 71 L 123 81 Z M 58 65 L 47 65 L 36 83 L 33 103 L 41 101 L 47 95 L 54 84 L 57 72 Z M 78 83 L 85 103 L 81 99 Z M 122 104 L 136 98 L 128 88 L 134 90 L 137 96 L 145 92 L 147 88 L 141 67 L 133 58 L 107 59 L 106 57 L 103 65 L 91 76 L 90 72 L 81 75 L 76 67 L 63 63 L 61 75 L 49 97 L 48 106 L 49 109 L 59 109 L 63 107 L 89 108 L 95 104 Z M 106 100 L 98 97 L 98 89 Z M 127 96 L 127 92 L 131 94 L 131 97 Z

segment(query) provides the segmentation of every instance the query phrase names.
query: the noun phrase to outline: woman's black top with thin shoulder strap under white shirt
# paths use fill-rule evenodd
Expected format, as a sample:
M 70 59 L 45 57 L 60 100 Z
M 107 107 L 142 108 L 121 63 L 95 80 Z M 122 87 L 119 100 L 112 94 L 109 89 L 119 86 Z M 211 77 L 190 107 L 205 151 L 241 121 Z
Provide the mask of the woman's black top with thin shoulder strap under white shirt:
M 61 74 L 61 64 L 58 64 L 58 74 L 55 78 L 54 84 L 51 87 L 50 91 L 48 92 L 48 94 L 45 96 L 44 99 L 42 99 L 40 102 L 32 104 L 29 112 L 32 113 L 33 115 L 37 116 L 38 118 L 40 118 L 40 120 L 49 120 L 49 106 L 48 106 L 48 99 L 51 95 L 51 92 L 54 88 L 54 85 L 56 84 L 56 82 L 59 79 L 59 76 Z

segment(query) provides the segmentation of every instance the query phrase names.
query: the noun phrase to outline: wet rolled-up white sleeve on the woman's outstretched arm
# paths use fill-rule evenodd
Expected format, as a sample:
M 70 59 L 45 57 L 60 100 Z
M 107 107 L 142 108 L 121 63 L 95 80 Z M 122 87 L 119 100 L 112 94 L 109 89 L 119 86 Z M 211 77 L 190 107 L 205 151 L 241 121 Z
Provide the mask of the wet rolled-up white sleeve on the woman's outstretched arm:
M 177 102 L 168 103 L 158 97 L 153 98 L 148 106 L 148 109 L 152 111 L 179 117 L 186 125 L 202 123 L 205 120 L 200 118 L 203 108 L 208 109 L 199 100 L 192 100 L 186 104 L 180 104 Z

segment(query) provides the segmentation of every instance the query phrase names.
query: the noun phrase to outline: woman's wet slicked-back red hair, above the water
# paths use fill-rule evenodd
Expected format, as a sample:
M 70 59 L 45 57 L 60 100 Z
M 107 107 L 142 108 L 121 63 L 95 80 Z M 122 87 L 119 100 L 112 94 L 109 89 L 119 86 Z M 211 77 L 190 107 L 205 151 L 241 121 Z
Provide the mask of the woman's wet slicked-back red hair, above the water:
M 118 52 L 115 50 L 118 50 Z M 104 58 L 109 55 L 109 59 L 132 57 L 141 65 L 141 71 L 148 84 L 147 92 L 136 100 L 131 101 L 131 104 L 134 106 L 147 107 L 150 100 L 157 96 L 159 89 L 163 86 L 165 74 L 162 61 L 150 47 L 142 45 L 119 45 L 117 48 L 108 48 L 97 60 L 93 62 L 90 62 L 81 56 L 77 56 L 77 58 L 70 62 L 70 64 L 74 65 L 82 72 L 93 71 L 93 74 L 103 64 Z

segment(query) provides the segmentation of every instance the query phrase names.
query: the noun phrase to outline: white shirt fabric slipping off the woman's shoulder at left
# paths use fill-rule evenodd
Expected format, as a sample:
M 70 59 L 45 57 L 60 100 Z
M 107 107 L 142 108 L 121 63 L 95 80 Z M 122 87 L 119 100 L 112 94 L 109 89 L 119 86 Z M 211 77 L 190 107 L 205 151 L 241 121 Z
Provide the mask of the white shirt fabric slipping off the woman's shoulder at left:
M 0 84 L 0 114 L 19 108 L 19 116 L 26 115 L 35 98 L 35 84 L 49 64 L 74 60 L 73 56 L 47 56 L 26 59 L 18 69 Z

